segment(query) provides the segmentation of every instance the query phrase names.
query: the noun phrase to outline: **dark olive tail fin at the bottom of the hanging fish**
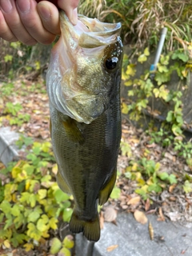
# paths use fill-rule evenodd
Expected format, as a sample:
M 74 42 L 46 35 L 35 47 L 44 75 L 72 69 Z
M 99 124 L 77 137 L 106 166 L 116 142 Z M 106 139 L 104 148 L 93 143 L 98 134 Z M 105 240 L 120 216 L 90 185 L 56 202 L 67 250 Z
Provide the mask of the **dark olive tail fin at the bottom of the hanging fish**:
M 94 242 L 98 242 L 100 238 L 100 224 L 98 216 L 90 221 L 84 221 L 74 212 L 70 218 L 70 230 L 73 233 L 83 232 L 85 237 Z

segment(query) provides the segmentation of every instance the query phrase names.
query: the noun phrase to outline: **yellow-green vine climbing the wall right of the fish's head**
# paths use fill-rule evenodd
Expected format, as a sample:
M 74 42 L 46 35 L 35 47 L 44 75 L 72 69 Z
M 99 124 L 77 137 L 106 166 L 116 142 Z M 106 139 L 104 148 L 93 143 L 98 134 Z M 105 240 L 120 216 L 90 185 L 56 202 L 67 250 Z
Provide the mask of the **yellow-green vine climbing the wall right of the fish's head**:
M 149 56 L 149 50 L 146 48 L 138 56 L 138 63 L 146 62 Z M 182 118 L 182 92 L 180 90 L 169 90 L 167 82 L 170 81 L 171 76 L 175 73 L 178 74 L 180 79 L 185 79 L 189 72 L 190 62 L 188 54 L 183 50 L 170 52 L 167 55 L 162 55 L 158 63 L 158 70 L 154 76 L 154 81 L 151 79 L 150 70 L 146 70 L 140 78 L 134 78 L 136 74 L 136 63 L 129 63 L 126 69 L 122 70 L 122 80 L 124 85 L 129 86 L 128 96 L 129 104 L 122 103 L 122 113 L 130 114 L 130 119 L 138 121 L 142 117 L 144 110 L 149 111 L 151 114 L 160 115 L 157 110 L 153 109 L 151 102 L 154 98 L 161 100 L 165 105 L 172 106 L 163 122 L 164 130 L 171 130 L 174 135 L 182 134 L 183 118 Z M 178 59 L 170 65 L 170 59 Z M 125 62 L 127 57 L 125 58 Z M 183 62 L 185 60 L 185 62 Z M 157 111 L 157 113 L 155 112 Z M 160 117 L 161 118 L 161 117 Z M 165 126 L 166 123 L 166 126 Z M 170 126 L 168 125 L 170 124 Z

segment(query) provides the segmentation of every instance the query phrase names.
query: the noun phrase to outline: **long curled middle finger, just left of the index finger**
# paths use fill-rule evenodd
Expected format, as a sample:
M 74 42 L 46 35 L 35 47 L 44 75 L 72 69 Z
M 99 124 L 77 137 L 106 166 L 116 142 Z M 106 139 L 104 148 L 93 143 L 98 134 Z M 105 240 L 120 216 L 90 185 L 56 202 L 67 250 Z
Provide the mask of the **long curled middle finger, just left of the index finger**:
M 54 41 L 55 34 L 50 33 L 42 26 L 35 0 L 17 0 L 16 5 L 22 24 L 35 40 L 42 44 L 50 44 Z

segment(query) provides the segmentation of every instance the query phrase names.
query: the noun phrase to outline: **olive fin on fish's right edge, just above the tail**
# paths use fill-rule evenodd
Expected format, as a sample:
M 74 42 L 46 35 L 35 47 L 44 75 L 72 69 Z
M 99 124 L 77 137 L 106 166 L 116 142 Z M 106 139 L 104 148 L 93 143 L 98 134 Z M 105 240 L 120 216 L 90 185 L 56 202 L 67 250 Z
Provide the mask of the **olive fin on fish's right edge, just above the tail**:
M 115 170 L 114 174 L 111 176 L 109 182 L 107 182 L 106 186 L 104 186 L 102 188 L 102 190 L 100 190 L 99 196 L 98 196 L 98 204 L 100 206 L 104 205 L 104 203 L 106 203 L 106 201 L 110 197 L 110 193 L 112 192 L 112 190 L 114 188 L 114 183 L 116 181 L 116 177 L 117 177 L 117 171 Z

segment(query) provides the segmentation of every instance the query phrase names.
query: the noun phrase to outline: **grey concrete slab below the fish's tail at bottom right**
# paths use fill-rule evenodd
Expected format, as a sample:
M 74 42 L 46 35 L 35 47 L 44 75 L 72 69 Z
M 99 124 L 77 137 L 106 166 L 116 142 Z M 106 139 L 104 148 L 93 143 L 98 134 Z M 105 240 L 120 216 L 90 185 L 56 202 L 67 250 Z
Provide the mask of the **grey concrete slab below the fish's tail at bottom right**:
M 77 256 L 191 256 L 192 223 L 189 227 L 178 222 L 158 222 L 157 216 L 148 215 L 154 228 L 154 241 L 150 240 L 148 224 L 142 225 L 133 214 L 118 214 L 117 226 L 105 223 L 101 238 L 94 244 L 93 254 L 86 254 L 87 242 L 78 234 Z M 108 252 L 110 246 L 118 247 Z

